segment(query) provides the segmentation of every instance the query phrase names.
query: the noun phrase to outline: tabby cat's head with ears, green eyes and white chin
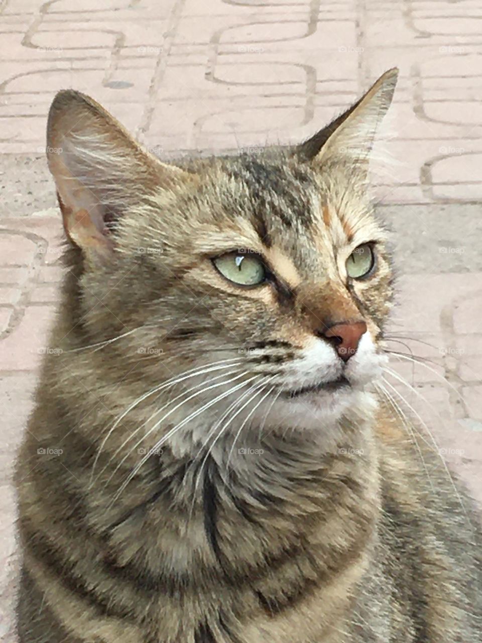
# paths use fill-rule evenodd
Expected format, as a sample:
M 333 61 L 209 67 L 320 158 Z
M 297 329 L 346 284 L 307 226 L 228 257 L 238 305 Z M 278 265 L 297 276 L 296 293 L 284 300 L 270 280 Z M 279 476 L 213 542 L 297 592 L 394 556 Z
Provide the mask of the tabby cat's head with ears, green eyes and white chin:
M 226 393 L 213 412 L 243 394 L 268 424 L 362 406 L 391 299 L 368 161 L 396 80 L 386 72 L 297 147 L 172 165 L 91 98 L 60 92 L 48 160 L 76 275 L 71 345 L 114 340 L 109 377 L 146 390 L 204 369 L 202 402 Z M 200 405 L 194 392 L 184 411 Z

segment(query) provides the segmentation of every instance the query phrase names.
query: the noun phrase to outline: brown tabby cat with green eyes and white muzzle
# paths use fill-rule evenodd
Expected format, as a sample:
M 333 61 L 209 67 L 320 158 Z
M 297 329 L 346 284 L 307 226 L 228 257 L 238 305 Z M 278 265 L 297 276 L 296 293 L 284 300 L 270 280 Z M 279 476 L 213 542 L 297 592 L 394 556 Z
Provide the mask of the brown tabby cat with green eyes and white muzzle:
M 482 642 L 474 503 L 380 393 L 368 167 L 396 81 L 299 145 L 172 163 L 55 96 L 21 643 Z

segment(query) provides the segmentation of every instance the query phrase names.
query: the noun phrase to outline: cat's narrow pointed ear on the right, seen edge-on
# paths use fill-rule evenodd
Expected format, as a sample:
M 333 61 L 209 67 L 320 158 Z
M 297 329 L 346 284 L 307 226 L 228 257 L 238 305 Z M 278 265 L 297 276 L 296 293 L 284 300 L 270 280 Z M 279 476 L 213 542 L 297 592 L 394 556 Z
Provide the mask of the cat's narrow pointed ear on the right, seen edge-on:
M 391 104 L 397 77 L 397 68 L 386 71 L 352 107 L 299 145 L 298 157 L 317 165 L 332 159 L 345 161 L 366 173 L 373 140 Z

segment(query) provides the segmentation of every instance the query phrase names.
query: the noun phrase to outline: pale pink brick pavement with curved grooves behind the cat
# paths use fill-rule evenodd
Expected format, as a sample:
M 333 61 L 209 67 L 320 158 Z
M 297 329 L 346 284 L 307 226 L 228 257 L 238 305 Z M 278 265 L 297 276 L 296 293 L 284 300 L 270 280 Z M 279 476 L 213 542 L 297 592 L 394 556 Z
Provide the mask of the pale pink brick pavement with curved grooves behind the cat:
M 13 640 L 12 461 L 62 278 L 43 152 L 64 87 L 162 157 L 299 141 L 399 66 L 377 196 L 398 248 L 393 332 L 432 370 L 397 368 L 482 500 L 481 17 L 481 0 L 0 1 L 0 640 Z

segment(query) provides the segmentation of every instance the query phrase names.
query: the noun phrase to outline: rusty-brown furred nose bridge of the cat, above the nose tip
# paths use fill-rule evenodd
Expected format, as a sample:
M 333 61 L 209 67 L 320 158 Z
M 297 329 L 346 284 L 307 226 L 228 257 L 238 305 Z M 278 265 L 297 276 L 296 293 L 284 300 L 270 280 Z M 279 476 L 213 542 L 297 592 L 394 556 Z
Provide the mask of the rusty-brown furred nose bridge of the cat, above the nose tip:
M 328 331 L 335 324 L 361 320 L 360 311 L 348 291 L 332 282 L 303 284 L 298 290 L 296 303 L 314 332 Z

